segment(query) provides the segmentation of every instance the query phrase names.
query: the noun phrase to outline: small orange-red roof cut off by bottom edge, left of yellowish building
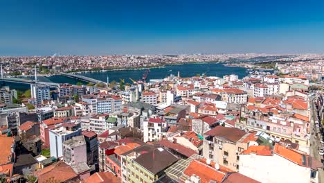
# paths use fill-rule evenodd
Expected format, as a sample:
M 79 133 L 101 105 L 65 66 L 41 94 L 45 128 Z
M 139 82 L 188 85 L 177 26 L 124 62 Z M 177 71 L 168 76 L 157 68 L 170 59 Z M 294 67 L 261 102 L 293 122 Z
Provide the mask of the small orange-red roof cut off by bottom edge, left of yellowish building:
M 83 183 L 118 183 L 118 178 L 111 172 L 96 172 Z

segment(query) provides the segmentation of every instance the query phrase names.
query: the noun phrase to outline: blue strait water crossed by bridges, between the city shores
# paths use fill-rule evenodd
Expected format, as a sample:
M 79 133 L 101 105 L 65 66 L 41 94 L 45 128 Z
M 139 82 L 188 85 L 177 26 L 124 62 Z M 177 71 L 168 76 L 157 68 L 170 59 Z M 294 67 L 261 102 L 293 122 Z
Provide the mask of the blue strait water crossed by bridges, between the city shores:
M 246 76 L 246 69 L 242 67 L 226 67 L 223 64 L 218 63 L 206 63 L 206 64 L 181 64 L 181 65 L 168 65 L 161 68 L 152 68 L 147 76 L 147 81 L 150 79 L 162 79 L 170 74 L 177 76 L 178 71 L 180 71 L 181 77 L 191 77 L 197 74 L 206 73 L 206 76 L 218 76 L 222 77 L 224 75 L 229 75 L 231 73 L 237 74 L 239 78 Z M 78 73 L 82 76 L 87 76 L 89 78 L 95 78 L 97 80 L 102 80 L 107 82 L 107 76 L 109 76 L 109 82 L 116 80 L 117 82 L 121 79 L 125 79 L 125 82 L 132 83 L 129 78 L 134 80 L 140 80 L 143 77 L 143 73 L 146 69 L 138 70 L 120 70 L 120 71 L 102 71 L 102 72 L 92 72 L 92 73 Z M 67 78 L 65 76 L 50 76 L 50 77 L 37 77 L 37 80 L 44 82 L 56 82 L 56 83 L 70 83 L 75 85 L 77 82 L 82 82 L 80 80 L 75 80 L 73 78 Z M 9 85 L 11 89 L 17 90 L 27 90 L 30 89 L 30 85 L 17 84 L 12 82 L 5 82 Z M 86 85 L 87 82 L 82 82 Z

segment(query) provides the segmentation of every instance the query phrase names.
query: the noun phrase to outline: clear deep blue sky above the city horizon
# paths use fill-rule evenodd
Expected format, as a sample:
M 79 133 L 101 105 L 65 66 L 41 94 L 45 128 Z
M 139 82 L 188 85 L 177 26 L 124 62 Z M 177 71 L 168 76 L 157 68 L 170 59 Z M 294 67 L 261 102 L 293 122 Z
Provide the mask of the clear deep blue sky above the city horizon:
M 324 53 L 318 0 L 0 0 L 0 55 Z

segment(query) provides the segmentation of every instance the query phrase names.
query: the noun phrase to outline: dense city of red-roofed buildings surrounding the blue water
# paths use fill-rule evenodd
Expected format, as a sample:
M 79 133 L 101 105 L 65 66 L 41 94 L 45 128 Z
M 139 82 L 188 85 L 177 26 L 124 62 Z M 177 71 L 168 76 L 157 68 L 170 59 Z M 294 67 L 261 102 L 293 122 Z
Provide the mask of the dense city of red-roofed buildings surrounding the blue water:
M 251 62 L 256 56 L 263 61 Z M 324 60 L 318 55 L 276 55 L 270 61 L 266 59 L 269 55 L 260 57 L 1 58 L 1 179 L 322 182 Z M 249 61 L 232 62 L 229 58 Z M 89 84 L 52 85 L 37 80 L 39 73 L 122 68 L 125 62 L 126 69 L 215 60 L 249 68 L 247 76 L 202 73 L 183 78 L 178 72 L 177 76 L 149 80 L 147 69 L 141 80 L 127 84 L 123 79 L 96 83 L 75 73 L 67 76 L 89 79 Z M 12 74 L 16 72 L 21 74 Z M 35 77 L 30 89 L 17 91 L 6 86 L 10 82 L 6 78 L 22 74 Z

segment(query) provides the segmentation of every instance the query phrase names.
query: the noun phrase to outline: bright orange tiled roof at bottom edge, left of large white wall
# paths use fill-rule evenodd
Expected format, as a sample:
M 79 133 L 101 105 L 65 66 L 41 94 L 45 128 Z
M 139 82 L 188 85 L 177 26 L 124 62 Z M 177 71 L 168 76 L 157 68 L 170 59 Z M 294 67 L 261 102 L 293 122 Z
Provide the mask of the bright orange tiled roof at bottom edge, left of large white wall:
M 210 181 L 222 182 L 223 178 L 225 177 L 225 173 L 217 171 L 215 168 L 203 164 L 196 159 L 190 162 L 183 173 L 189 177 L 194 174 L 199 176 L 201 183 L 209 183 Z

